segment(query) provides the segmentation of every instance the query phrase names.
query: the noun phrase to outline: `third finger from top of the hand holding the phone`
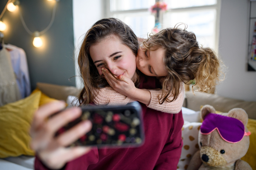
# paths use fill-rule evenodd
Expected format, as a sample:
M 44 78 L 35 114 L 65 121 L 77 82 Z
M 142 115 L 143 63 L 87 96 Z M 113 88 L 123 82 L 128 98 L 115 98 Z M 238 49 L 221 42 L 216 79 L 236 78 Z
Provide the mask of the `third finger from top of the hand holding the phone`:
M 67 146 L 69 144 L 72 144 L 77 139 L 79 139 L 81 136 L 89 132 L 92 128 L 92 123 L 90 121 L 84 121 L 76 125 L 75 127 L 72 127 L 70 130 L 68 130 L 65 133 L 62 133 L 56 138 L 56 142 L 60 146 Z

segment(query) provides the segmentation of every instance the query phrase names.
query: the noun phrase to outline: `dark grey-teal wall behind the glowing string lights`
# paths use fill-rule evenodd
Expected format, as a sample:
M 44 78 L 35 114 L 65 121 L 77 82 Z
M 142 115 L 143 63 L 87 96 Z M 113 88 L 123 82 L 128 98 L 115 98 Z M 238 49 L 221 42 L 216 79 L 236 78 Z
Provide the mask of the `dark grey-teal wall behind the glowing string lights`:
M 0 11 L 8 0 L 0 1 Z M 20 10 L 29 30 L 42 31 L 52 17 L 55 1 L 20 0 Z M 73 6 L 72 0 L 60 0 L 57 4 L 52 27 L 41 36 L 44 45 L 35 48 L 33 38 L 23 28 L 18 10 L 6 10 L 2 21 L 7 29 L 3 31 L 5 43 L 23 48 L 27 55 L 32 90 L 36 82 L 57 85 L 75 85 L 75 64 L 73 60 Z

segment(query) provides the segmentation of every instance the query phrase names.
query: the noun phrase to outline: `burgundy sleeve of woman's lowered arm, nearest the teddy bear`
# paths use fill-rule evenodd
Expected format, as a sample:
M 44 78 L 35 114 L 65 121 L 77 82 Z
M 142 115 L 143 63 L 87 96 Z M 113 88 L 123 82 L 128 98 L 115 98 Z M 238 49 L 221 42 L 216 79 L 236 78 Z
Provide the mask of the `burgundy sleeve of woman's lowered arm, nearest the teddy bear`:
M 174 114 L 172 130 L 169 138 L 157 159 L 154 170 L 177 170 L 180 159 L 183 141 L 181 138 L 181 128 L 183 126 L 182 111 Z

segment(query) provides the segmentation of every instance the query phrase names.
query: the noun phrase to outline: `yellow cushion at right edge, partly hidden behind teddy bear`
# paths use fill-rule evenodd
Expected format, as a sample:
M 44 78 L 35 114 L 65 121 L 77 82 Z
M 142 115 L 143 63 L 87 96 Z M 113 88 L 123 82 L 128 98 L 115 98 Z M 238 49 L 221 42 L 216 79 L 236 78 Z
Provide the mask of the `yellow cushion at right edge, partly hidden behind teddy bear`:
M 250 131 L 251 135 L 250 137 L 250 145 L 249 149 L 244 157 L 241 159 L 246 161 L 253 170 L 256 170 L 256 120 L 255 119 L 249 119 L 247 126 L 248 130 Z

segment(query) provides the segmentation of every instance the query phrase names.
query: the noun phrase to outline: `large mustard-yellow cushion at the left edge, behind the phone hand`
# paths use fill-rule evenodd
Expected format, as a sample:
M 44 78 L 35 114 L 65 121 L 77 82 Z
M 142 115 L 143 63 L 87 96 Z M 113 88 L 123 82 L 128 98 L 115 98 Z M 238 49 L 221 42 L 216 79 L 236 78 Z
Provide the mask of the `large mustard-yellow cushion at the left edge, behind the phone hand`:
M 37 92 L 0 108 L 0 158 L 35 155 L 29 147 L 29 128 L 40 97 Z

